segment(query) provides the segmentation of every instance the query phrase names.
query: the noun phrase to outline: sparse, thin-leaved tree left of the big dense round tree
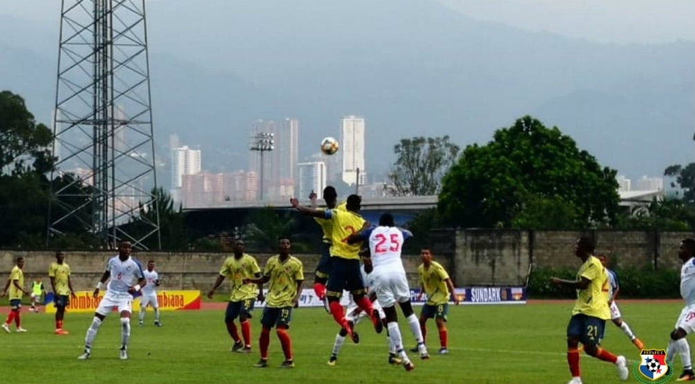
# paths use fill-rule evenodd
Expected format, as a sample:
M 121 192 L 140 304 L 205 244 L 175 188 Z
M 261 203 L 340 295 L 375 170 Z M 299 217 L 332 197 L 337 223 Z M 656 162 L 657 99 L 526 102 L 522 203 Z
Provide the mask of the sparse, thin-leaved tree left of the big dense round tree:
M 397 196 L 436 194 L 441 179 L 456 162 L 460 148 L 444 137 L 413 137 L 395 144 L 389 179 Z

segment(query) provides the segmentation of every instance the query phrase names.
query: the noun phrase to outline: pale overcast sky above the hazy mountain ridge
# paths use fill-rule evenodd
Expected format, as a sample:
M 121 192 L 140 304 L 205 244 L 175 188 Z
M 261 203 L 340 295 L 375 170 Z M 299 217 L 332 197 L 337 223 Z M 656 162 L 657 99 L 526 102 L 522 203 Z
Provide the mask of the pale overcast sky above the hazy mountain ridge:
M 404 6 L 408 1 L 414 0 L 403 0 Z M 695 41 L 695 0 L 438 1 L 475 19 L 598 42 Z M 60 0 L 0 0 L 0 14 L 57 24 Z

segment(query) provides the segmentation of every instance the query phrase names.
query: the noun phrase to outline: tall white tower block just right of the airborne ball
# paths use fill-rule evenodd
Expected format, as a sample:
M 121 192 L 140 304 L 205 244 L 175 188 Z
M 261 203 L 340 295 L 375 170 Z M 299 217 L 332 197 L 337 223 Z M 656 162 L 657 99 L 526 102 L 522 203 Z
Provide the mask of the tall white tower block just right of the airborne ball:
M 364 185 L 366 181 L 366 169 L 364 167 L 364 119 L 357 116 L 345 116 L 341 120 L 341 150 L 343 167 L 342 178 L 348 185 L 354 185 L 357 181 L 357 169 L 359 169 L 358 185 Z

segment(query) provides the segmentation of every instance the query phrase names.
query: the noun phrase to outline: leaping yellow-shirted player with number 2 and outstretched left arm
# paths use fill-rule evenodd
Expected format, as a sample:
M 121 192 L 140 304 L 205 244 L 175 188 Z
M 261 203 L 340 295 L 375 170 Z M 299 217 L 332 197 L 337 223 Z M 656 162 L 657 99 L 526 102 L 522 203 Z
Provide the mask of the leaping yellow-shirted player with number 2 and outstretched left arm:
M 317 210 L 309 207 L 300 206 L 297 199 L 290 199 L 292 206 L 305 215 L 322 217 L 333 222 L 333 232 L 331 234 L 331 272 L 328 276 L 326 296 L 328 297 L 331 314 L 341 327 L 345 328 L 352 342 L 357 342 L 352 332 L 352 325 L 345 319 L 345 309 L 341 306 L 341 296 L 343 290 L 352 294 L 352 299 L 357 306 L 370 314 L 372 324 L 377 333 L 383 329 L 379 312 L 374 310 L 371 301 L 366 297 L 365 284 L 362 281 L 362 273 L 359 268 L 359 251 L 361 242 L 348 244 L 347 237 L 353 233 L 361 231 L 368 225 L 365 219 L 359 215 L 362 198 L 357 194 L 351 194 L 345 200 L 345 210 L 330 209 Z

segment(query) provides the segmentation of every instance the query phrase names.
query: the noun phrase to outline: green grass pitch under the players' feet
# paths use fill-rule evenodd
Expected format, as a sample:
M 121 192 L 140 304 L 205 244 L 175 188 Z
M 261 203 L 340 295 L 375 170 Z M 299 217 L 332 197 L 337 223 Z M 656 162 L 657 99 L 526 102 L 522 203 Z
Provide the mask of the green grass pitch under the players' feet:
M 648 348 L 665 348 L 682 306 L 678 303 L 621 303 L 623 319 Z M 420 308 L 416 307 L 419 313 Z M 327 365 L 338 328 L 321 308 L 295 310 L 291 337 L 294 369 L 279 369 L 284 360 L 275 332 L 270 339 L 270 367 L 252 367 L 259 360 L 261 308 L 252 319 L 251 354 L 230 353 L 222 310 L 163 312 L 162 328 L 154 327 L 152 312 L 146 325 L 133 322 L 130 360 L 118 358 L 120 324 L 111 314 L 101 326 L 90 360 L 76 360 L 82 352 L 90 314 L 68 313 L 70 335 L 54 335 L 53 315 L 28 313 L 22 325 L 27 333 L 0 330 L 1 383 L 566 383 L 565 328 L 571 303 L 533 303 L 516 306 L 451 306 L 448 356 L 436 355 L 439 336 L 428 322 L 432 358 L 414 358 L 416 369 L 386 364 L 386 333 L 377 335 L 369 322 L 357 326 L 360 344 L 347 340 L 338 365 Z M 4 316 L 4 315 L 3 315 Z M 135 315 L 137 316 L 137 315 Z M 14 328 L 14 326 L 13 326 Z M 406 324 L 401 330 L 407 347 L 413 338 Z M 639 351 L 612 323 L 607 324 L 603 346 L 630 361 Z M 680 374 L 677 360 L 676 374 Z M 621 383 L 613 365 L 582 354 L 584 383 Z

